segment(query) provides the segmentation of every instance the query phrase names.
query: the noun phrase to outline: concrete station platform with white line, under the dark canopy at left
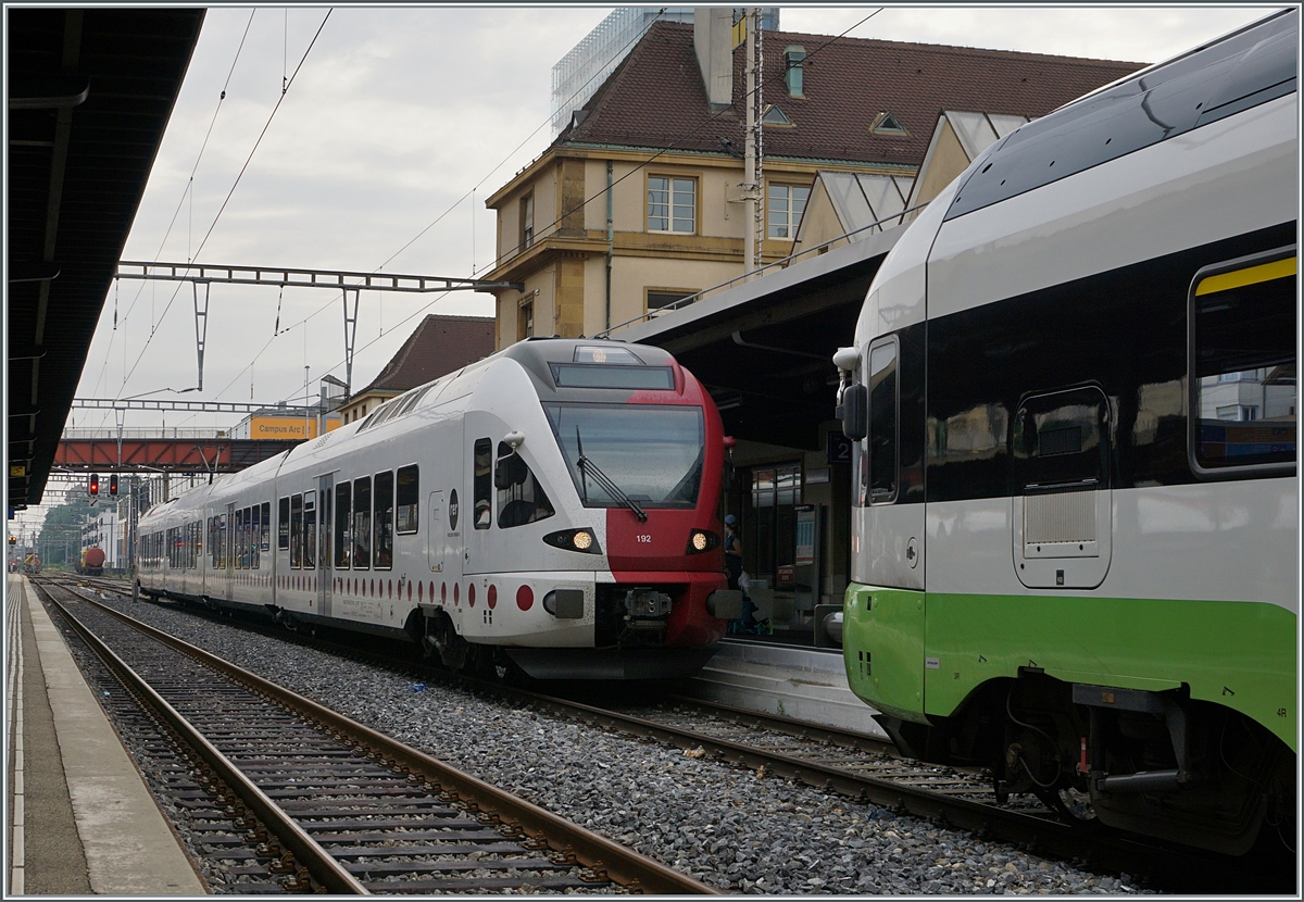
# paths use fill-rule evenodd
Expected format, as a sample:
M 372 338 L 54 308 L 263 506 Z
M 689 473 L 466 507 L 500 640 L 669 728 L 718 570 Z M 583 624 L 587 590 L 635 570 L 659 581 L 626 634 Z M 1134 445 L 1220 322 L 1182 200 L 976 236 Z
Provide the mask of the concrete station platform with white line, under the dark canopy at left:
M 206 895 L 27 580 L 5 584 L 5 898 Z

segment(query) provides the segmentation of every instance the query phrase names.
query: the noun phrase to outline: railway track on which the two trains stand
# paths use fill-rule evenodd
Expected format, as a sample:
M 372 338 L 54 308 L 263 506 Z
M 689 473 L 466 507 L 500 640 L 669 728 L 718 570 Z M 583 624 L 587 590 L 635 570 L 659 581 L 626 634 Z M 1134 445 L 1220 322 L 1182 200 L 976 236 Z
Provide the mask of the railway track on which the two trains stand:
M 356 647 L 347 653 L 404 671 L 415 667 L 409 660 L 360 654 Z M 424 678 L 447 676 L 446 671 L 432 669 Z M 583 696 L 559 697 L 464 676 L 456 679 L 514 704 L 652 738 L 695 757 L 711 756 L 835 791 L 1101 873 L 1132 875 L 1154 889 L 1179 893 L 1292 893 L 1295 889 L 1294 868 L 1283 869 L 1275 859 L 1232 859 L 1097 829 L 1080 804 L 1073 809 L 1084 815 L 1084 822 L 1074 824 L 1060 820 L 1030 795 L 1011 796 L 1005 804 L 998 804 L 983 773 L 904 760 L 874 736 L 698 699 L 662 695 L 656 705 L 595 705 Z

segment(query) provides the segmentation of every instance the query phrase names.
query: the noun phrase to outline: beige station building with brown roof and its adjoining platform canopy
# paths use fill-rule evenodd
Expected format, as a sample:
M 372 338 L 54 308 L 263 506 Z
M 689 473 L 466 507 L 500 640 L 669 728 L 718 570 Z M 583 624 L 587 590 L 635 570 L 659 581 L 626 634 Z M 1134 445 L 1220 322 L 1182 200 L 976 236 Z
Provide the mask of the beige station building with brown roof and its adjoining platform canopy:
M 711 390 L 733 452 L 751 596 L 810 633 L 840 605 L 850 448 L 832 353 L 917 210 L 1018 125 L 1140 69 L 763 31 L 759 271 L 745 274 L 745 46 L 729 9 L 656 21 L 553 143 L 499 188 L 496 347 L 610 335 Z M 801 253 L 799 257 L 793 257 Z

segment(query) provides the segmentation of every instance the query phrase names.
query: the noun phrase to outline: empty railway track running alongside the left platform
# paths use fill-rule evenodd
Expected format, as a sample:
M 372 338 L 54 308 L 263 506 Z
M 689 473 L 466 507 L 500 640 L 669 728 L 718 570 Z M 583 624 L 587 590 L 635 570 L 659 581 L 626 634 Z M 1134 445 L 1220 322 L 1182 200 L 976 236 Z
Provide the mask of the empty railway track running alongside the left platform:
M 715 892 L 70 588 L 40 590 L 141 703 L 129 729 L 162 725 L 164 807 L 207 825 L 236 892 Z

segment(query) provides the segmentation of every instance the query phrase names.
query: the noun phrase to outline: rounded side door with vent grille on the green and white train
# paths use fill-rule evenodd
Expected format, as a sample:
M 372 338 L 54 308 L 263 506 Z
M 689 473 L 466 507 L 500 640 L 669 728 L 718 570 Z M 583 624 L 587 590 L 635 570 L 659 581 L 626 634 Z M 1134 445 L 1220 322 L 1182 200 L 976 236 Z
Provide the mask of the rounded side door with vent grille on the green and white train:
M 1015 574 L 1094 589 L 1110 570 L 1110 401 L 1095 386 L 1028 395 L 1012 430 Z

